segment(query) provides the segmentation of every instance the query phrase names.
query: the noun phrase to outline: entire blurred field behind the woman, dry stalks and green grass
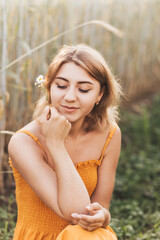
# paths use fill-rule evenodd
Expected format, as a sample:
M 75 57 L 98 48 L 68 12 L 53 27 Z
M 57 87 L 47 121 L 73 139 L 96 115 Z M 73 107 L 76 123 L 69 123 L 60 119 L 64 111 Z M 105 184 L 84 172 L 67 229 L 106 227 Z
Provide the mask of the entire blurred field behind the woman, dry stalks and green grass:
M 4 131 L 31 120 L 36 77 L 61 46 L 77 43 L 103 54 L 127 97 L 111 225 L 120 240 L 160 239 L 159 13 L 159 0 L 0 0 L 0 239 L 12 239 L 16 219 Z

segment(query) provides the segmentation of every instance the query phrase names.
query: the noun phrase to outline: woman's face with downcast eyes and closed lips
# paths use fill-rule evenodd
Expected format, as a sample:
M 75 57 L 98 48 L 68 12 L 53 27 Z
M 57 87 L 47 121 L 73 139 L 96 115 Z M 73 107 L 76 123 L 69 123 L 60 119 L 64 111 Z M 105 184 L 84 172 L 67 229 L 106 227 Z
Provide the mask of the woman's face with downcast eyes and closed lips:
M 50 94 L 52 106 L 71 123 L 83 121 L 103 95 L 99 82 L 72 62 L 62 65 Z

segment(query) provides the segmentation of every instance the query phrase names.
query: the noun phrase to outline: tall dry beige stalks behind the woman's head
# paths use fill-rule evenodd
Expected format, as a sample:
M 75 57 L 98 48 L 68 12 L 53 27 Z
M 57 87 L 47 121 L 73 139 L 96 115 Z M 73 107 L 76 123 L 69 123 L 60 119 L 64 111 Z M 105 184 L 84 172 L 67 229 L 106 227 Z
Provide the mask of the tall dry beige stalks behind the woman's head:
M 34 87 L 35 78 L 40 74 L 45 75 L 53 55 L 63 44 L 86 43 L 99 50 L 122 80 L 129 100 L 158 89 L 158 0 L 7 0 L 6 3 L 6 64 L 21 59 L 23 55 L 27 57 L 12 66 L 8 65 L 6 69 L 6 107 L 1 99 L 4 93 L 0 94 L 0 115 L 4 112 L 2 108 L 7 113 L 5 129 L 15 131 L 31 120 L 34 103 L 39 95 L 38 89 Z M 93 22 L 95 19 L 103 21 L 103 24 Z M 113 29 L 111 32 L 109 28 L 106 30 L 104 22 L 124 32 L 123 38 L 117 37 L 115 32 L 113 34 Z M 83 26 L 81 23 L 84 23 Z M 100 26 L 97 25 L 99 23 Z M 2 28 L 0 37 L 2 39 Z M 1 41 L 0 55 L 2 47 Z

